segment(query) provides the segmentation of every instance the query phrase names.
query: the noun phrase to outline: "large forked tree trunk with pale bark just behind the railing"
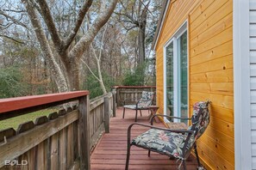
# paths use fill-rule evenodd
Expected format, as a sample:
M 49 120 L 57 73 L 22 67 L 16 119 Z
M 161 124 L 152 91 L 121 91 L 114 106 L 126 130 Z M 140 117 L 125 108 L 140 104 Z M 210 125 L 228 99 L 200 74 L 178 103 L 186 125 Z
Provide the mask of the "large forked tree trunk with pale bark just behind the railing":
M 97 15 L 91 27 L 78 40 L 76 45 L 72 45 L 78 30 L 84 22 L 84 16 L 91 8 L 92 2 L 93 0 L 84 1 L 72 31 L 66 39 L 62 39 L 55 26 L 53 15 L 46 0 L 22 0 L 34 27 L 41 50 L 52 70 L 59 92 L 79 89 L 80 59 L 90 47 L 91 41 L 95 38 L 101 27 L 109 20 L 110 15 L 116 8 L 117 0 L 111 0 L 108 3 L 103 1 L 100 8 L 101 12 Z M 47 39 L 47 35 L 41 25 L 41 18 L 46 24 L 52 42 Z M 51 43 L 53 43 L 53 46 L 51 46 Z M 59 61 L 61 64 L 59 64 Z

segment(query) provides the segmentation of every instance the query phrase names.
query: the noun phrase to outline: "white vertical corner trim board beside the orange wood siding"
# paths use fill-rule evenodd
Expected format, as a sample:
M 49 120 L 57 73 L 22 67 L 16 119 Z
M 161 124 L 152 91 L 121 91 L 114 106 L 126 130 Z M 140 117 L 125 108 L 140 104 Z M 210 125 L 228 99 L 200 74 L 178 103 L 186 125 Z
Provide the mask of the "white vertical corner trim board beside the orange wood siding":
M 234 162 L 252 169 L 250 111 L 249 0 L 234 0 Z

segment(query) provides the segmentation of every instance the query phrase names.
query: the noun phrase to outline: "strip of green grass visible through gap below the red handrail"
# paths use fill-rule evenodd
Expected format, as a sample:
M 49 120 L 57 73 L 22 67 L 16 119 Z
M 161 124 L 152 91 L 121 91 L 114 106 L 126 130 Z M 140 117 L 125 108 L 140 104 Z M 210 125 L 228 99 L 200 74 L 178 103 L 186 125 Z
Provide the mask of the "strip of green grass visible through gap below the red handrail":
M 41 110 L 38 112 L 31 112 L 16 118 L 9 118 L 6 120 L 0 121 L 0 131 L 13 127 L 15 130 L 18 128 L 19 124 L 28 122 L 30 120 L 35 120 L 35 118 L 41 117 L 41 116 L 48 116 L 50 113 L 56 112 L 56 109 L 47 109 L 47 110 Z

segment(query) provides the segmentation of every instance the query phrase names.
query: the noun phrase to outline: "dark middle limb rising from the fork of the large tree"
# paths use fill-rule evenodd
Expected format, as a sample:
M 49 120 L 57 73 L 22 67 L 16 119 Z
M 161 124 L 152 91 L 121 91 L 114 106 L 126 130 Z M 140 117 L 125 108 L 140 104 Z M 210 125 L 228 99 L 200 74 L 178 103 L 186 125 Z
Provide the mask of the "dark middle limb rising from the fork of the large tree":
M 75 38 L 76 34 L 78 33 L 79 27 L 81 26 L 81 24 L 84 21 L 84 16 L 86 15 L 88 9 L 90 9 L 91 7 L 91 3 L 93 0 L 87 0 L 82 9 L 80 9 L 79 13 L 78 13 L 78 20 L 75 23 L 75 27 L 73 27 L 72 32 L 68 35 L 63 48 L 66 50 L 68 48 L 68 46 L 71 45 L 72 40 Z

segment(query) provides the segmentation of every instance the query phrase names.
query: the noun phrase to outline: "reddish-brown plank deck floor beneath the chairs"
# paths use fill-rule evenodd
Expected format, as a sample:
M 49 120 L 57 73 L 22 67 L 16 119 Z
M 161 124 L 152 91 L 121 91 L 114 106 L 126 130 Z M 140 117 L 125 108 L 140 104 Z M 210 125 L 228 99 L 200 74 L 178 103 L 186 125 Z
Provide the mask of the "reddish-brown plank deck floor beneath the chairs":
M 126 110 L 125 118 L 122 118 L 122 108 L 116 108 L 116 118 L 110 118 L 110 133 L 103 134 L 91 155 L 91 169 L 124 169 L 127 152 L 127 129 L 128 125 L 134 123 L 134 111 Z M 142 117 L 138 114 L 138 123 L 149 124 L 147 111 L 142 111 Z M 164 127 L 164 124 L 157 124 Z M 134 126 L 132 136 L 147 131 L 145 127 Z M 197 162 L 194 158 L 187 161 L 187 169 L 197 169 Z M 169 160 L 165 155 L 157 153 L 147 157 L 147 150 L 132 146 L 129 169 L 177 169 L 176 161 Z

